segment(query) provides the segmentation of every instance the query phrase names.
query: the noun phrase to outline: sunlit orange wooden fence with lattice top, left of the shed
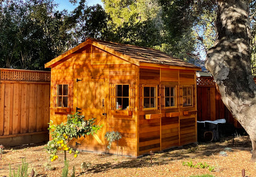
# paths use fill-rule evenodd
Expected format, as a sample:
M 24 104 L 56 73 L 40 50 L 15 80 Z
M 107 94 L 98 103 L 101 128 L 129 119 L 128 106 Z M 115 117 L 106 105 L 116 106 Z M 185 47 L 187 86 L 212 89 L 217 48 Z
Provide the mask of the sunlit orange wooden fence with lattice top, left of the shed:
M 49 138 L 50 72 L 0 69 L 0 144 Z

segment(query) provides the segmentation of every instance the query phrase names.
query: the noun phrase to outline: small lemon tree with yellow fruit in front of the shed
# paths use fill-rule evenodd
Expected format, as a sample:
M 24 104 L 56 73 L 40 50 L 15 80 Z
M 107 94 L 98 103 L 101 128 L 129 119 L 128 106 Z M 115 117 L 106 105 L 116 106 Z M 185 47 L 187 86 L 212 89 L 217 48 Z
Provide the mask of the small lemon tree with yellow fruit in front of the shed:
M 78 156 L 79 151 L 74 151 L 74 149 L 68 147 L 68 142 L 73 138 L 78 138 L 81 136 L 88 136 L 97 133 L 102 126 L 95 125 L 95 118 L 84 120 L 84 116 L 81 116 L 76 112 L 75 114 L 68 114 L 66 122 L 62 122 L 59 125 L 54 125 L 50 122 L 49 130 L 52 140 L 50 140 L 46 149 L 50 154 L 50 160 L 54 161 L 58 159 L 58 151 L 69 151 L 70 154 L 74 153 L 74 157 Z M 65 159 L 66 160 L 66 159 Z

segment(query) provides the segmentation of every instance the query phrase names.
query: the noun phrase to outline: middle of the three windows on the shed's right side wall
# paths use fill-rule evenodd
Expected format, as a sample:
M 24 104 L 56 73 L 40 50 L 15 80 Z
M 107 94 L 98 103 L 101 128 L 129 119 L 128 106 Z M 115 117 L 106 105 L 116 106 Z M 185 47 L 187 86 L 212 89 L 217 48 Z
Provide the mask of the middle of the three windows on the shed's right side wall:
M 164 87 L 164 107 L 176 106 L 176 87 L 165 86 Z

